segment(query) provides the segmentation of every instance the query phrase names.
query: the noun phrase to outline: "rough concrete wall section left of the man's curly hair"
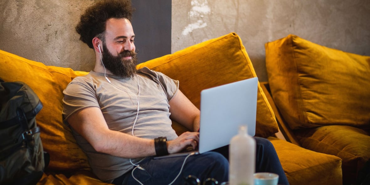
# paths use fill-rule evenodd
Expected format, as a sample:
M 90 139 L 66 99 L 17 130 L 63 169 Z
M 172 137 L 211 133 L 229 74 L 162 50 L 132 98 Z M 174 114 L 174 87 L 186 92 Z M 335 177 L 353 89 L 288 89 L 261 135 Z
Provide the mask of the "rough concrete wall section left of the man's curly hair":
M 46 65 L 90 71 L 94 51 L 74 27 L 91 0 L 1 0 L 0 49 Z

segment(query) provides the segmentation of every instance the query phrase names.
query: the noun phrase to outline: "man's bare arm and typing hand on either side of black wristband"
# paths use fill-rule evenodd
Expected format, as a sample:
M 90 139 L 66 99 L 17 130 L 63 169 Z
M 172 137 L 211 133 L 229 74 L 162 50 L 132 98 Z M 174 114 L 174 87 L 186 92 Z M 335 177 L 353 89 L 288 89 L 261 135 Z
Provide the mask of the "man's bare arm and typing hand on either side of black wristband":
M 134 137 L 110 130 L 98 107 L 88 107 L 75 112 L 67 121 L 98 152 L 124 158 L 156 155 L 153 139 Z M 167 142 L 168 152 L 171 154 L 181 151 L 188 145 L 195 147 L 195 141 L 199 141 L 198 134 L 185 132 L 173 141 Z

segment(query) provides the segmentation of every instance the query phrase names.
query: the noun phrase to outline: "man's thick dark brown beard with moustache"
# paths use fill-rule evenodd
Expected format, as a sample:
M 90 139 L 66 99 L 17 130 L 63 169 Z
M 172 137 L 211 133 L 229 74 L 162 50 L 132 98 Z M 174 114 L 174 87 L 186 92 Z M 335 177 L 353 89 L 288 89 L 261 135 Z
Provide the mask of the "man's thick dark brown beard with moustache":
M 128 56 L 131 56 L 131 59 L 125 60 L 124 57 Z M 114 56 L 103 44 L 102 61 L 103 66 L 113 75 L 127 78 L 134 76 L 138 59 L 135 51 L 122 51 L 118 56 Z

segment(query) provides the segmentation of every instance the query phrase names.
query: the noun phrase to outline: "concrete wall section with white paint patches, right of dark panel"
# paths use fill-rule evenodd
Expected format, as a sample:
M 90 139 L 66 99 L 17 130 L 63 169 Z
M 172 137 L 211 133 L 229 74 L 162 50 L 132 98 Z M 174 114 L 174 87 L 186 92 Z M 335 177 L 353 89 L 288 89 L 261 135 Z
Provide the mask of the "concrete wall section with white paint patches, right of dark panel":
M 369 17 L 369 0 L 173 0 L 171 50 L 236 32 L 259 80 L 267 81 L 266 42 L 295 34 L 370 55 Z

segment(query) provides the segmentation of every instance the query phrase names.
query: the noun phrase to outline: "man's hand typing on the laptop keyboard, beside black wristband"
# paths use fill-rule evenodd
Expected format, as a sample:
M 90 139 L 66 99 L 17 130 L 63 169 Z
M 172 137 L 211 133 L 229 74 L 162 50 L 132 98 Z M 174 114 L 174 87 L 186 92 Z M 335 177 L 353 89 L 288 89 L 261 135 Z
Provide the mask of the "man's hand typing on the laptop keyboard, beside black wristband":
M 196 148 L 199 142 L 199 132 L 184 132 L 179 137 L 172 141 L 167 141 L 167 150 L 169 154 L 173 154 L 183 150 L 188 146 Z

